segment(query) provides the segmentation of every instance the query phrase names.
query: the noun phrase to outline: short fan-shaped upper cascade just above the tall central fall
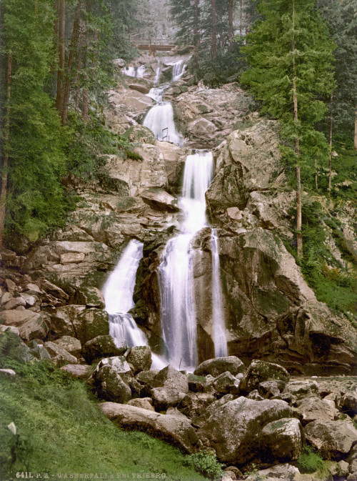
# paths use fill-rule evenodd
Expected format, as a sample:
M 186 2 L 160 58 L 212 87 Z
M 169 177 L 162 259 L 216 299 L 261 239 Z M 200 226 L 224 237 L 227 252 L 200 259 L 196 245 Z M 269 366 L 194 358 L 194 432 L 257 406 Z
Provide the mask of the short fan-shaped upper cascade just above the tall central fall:
M 158 140 L 165 140 L 178 145 L 183 143 L 182 135 L 176 130 L 174 109 L 171 102 L 160 102 L 151 107 L 146 114 L 143 125 L 148 127 Z

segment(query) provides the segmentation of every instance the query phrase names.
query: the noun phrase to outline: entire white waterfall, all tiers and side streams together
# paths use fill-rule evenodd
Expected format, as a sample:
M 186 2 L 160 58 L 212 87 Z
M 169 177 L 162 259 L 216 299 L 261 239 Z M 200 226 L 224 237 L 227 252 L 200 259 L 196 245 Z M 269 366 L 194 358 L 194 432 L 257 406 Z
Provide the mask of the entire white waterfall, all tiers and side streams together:
M 172 81 L 184 74 L 183 60 L 168 62 L 173 66 Z M 161 63 L 156 70 L 155 84 L 159 81 Z M 182 135 L 174 123 L 174 110 L 169 101 L 163 101 L 164 90 L 169 84 L 156 86 L 148 96 L 156 101 L 144 119 L 158 140 L 181 145 Z M 188 155 L 183 173 L 182 197 L 179 206 L 183 221 L 180 233 L 169 240 L 159 265 L 161 296 L 161 334 L 164 340 L 166 362 L 179 369 L 194 370 L 198 363 L 196 302 L 193 284 L 193 260 L 197 249 L 192 243 L 196 234 L 207 227 L 205 193 L 213 177 L 213 156 L 210 150 L 194 150 Z M 128 347 L 147 345 L 144 332 L 128 314 L 134 307 L 133 292 L 136 270 L 142 257 L 143 246 L 131 240 L 122 254 L 119 264 L 104 285 L 106 309 L 110 316 L 110 334 L 116 344 L 126 342 Z M 218 237 L 211 230 L 211 302 L 213 325 L 211 337 L 216 357 L 227 354 L 225 323 L 221 302 L 221 280 L 218 257 Z M 155 364 L 158 357 L 154 355 Z

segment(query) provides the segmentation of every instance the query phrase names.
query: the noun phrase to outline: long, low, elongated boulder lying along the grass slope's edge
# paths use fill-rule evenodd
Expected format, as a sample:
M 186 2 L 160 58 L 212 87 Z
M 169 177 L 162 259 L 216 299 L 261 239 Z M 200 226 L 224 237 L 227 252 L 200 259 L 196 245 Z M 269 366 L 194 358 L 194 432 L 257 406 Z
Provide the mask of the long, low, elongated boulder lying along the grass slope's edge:
M 139 427 L 140 430 L 169 441 L 183 452 L 196 451 L 197 436 L 190 420 L 114 402 L 104 402 L 99 407 L 109 420 L 124 429 L 137 430 Z

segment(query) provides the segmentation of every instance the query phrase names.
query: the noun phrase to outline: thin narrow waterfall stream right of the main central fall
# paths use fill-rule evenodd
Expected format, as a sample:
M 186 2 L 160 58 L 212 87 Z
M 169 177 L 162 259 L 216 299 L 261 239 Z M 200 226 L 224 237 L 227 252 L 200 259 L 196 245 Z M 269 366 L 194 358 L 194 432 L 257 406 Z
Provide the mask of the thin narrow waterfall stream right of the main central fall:
M 216 229 L 211 233 L 212 249 L 212 305 L 213 305 L 213 334 L 214 355 L 223 357 L 227 352 L 226 329 L 222 312 L 222 289 L 218 254 L 218 236 Z

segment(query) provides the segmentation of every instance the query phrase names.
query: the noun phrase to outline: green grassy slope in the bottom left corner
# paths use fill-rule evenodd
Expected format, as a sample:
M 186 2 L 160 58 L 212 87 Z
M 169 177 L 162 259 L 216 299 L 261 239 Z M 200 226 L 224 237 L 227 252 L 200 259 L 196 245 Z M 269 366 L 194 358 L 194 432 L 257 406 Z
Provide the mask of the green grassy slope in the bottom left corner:
M 1 364 L 18 373 L 15 380 L 1 381 L 2 481 L 16 479 L 16 472 L 49 473 L 51 480 L 59 479 L 59 473 L 106 473 L 114 479 L 160 473 L 172 481 L 204 479 L 176 448 L 114 426 L 84 382 L 43 362 L 21 365 L 6 359 Z M 16 435 L 8 429 L 11 422 Z

